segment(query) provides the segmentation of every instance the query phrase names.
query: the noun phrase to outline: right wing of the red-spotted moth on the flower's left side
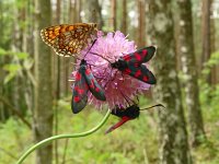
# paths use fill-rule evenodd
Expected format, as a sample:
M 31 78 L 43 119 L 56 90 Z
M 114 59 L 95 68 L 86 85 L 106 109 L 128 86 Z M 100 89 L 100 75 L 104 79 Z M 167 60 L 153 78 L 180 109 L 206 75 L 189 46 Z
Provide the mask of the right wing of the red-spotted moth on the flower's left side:
M 84 78 L 88 83 L 90 92 L 100 101 L 106 101 L 104 90 L 93 77 L 91 70 L 87 67 Z

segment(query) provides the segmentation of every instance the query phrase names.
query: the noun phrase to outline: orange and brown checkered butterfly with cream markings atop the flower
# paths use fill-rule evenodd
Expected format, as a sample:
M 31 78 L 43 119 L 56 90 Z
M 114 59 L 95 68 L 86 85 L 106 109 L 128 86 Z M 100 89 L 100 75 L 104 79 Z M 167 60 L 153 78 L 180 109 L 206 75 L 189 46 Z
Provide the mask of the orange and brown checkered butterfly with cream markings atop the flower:
M 60 24 L 41 31 L 43 40 L 59 56 L 77 56 L 96 37 L 96 23 Z

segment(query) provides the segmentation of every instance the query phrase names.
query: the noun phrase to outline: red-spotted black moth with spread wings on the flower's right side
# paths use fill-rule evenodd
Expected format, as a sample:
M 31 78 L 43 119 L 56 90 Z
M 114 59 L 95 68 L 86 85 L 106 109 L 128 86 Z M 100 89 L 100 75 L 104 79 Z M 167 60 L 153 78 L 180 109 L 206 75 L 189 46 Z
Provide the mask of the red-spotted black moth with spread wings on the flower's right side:
M 118 69 L 124 74 L 134 77 L 148 84 L 155 84 L 157 80 L 153 73 L 147 69 L 145 62 L 148 62 L 154 55 L 155 47 L 145 47 L 132 54 L 128 54 L 111 63 L 112 68 Z

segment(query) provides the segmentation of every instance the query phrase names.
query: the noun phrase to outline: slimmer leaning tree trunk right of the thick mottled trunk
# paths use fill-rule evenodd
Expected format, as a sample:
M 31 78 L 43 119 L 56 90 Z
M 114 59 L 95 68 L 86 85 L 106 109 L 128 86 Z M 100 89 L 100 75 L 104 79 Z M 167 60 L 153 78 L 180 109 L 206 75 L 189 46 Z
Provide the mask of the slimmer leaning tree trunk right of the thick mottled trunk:
M 199 89 L 193 43 L 193 20 L 191 0 L 177 0 L 180 21 L 178 23 L 178 48 L 182 60 L 182 70 L 185 77 L 186 106 L 188 109 L 188 124 L 191 126 L 191 142 L 193 145 L 200 143 L 205 137 L 203 116 L 199 103 Z

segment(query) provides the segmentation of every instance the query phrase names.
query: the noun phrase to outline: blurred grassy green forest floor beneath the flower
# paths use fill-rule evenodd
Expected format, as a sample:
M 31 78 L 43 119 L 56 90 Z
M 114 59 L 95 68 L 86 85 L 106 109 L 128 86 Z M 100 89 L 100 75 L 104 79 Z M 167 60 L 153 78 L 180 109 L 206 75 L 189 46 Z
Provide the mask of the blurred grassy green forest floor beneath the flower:
M 141 108 L 149 105 L 145 101 Z M 192 149 L 196 164 L 219 163 L 219 112 L 217 105 L 203 101 L 205 130 L 208 140 Z M 158 126 L 157 109 L 141 113 L 138 119 L 131 120 L 112 133 L 105 130 L 117 122 L 112 116 L 102 129 L 80 139 L 58 141 L 58 159 L 61 164 L 157 164 L 158 163 Z M 58 133 L 77 133 L 95 127 L 104 117 L 105 110 L 97 112 L 87 107 L 79 115 L 72 115 L 69 102 L 59 101 Z M 31 120 L 31 119 L 30 119 Z M 32 143 L 32 131 L 16 118 L 0 124 L 0 164 L 15 163 L 22 152 Z M 67 144 L 67 147 L 66 147 Z M 66 152 L 66 153 L 65 153 Z M 34 163 L 34 153 L 24 163 Z M 55 159 L 55 157 L 54 157 Z

